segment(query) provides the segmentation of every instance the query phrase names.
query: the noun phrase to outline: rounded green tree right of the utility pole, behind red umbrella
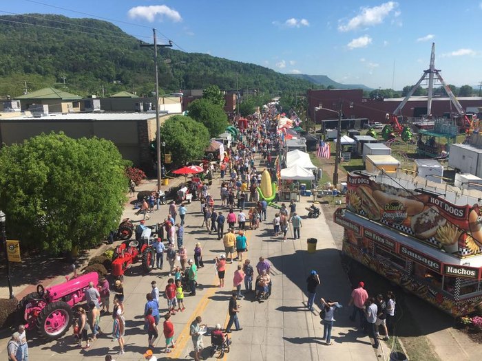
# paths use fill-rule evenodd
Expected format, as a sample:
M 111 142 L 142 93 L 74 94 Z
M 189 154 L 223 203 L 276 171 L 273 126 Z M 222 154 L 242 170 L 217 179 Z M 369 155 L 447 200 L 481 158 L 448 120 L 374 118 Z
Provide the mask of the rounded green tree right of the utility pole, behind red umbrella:
M 160 127 L 160 137 L 178 166 L 200 159 L 209 145 L 207 128 L 188 116 L 173 116 L 166 120 Z

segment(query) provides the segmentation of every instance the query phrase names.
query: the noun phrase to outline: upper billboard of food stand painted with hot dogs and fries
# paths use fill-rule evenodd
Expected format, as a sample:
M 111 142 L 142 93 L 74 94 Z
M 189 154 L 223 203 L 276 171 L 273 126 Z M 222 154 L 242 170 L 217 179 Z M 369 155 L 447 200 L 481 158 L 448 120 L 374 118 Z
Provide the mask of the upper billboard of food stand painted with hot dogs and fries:
M 348 175 L 346 207 L 459 257 L 482 252 L 482 208 Z

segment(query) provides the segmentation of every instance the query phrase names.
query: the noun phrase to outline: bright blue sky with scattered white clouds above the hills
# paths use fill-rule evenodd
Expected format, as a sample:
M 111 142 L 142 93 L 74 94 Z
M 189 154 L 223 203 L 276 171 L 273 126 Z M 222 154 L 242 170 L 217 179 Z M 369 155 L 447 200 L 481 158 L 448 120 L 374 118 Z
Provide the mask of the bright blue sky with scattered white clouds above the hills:
M 447 83 L 482 81 L 482 0 L 17 0 L 0 14 L 87 17 L 65 9 L 123 21 L 112 22 L 144 41 L 156 28 L 178 50 L 373 88 L 415 84 L 433 41 Z

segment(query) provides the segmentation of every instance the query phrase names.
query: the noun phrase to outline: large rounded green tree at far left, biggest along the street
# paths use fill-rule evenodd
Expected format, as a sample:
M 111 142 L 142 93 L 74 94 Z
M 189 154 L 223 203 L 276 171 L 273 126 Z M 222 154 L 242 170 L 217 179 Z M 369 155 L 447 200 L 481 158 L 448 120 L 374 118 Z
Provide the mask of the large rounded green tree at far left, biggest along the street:
M 38 135 L 0 150 L 0 207 L 24 248 L 91 248 L 116 228 L 126 200 L 124 161 L 112 142 Z

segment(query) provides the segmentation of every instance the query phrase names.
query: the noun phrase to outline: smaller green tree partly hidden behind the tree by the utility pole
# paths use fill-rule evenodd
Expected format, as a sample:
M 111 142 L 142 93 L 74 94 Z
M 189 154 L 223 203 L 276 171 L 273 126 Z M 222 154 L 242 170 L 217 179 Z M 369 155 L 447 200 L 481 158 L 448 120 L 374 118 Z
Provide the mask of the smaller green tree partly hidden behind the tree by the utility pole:
M 228 116 L 219 105 L 201 98 L 194 100 L 188 107 L 189 116 L 202 124 L 209 130 L 211 137 L 217 137 L 228 126 Z

